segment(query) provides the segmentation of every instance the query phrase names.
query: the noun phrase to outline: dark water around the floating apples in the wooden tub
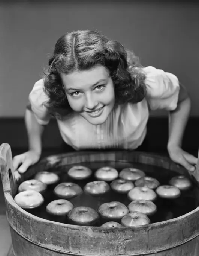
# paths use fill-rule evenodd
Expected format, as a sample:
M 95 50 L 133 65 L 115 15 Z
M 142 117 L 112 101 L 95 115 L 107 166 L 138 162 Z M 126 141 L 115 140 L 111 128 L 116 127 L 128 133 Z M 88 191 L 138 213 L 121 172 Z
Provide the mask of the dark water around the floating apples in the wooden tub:
M 139 163 L 93 162 L 93 163 L 78 163 L 78 165 L 87 166 L 93 171 L 93 175 L 86 180 L 73 180 L 67 175 L 67 171 L 74 165 L 62 166 L 61 168 L 49 169 L 48 171 L 56 172 L 59 175 L 60 177 L 59 183 L 73 182 L 81 186 L 82 189 L 88 182 L 96 180 L 96 178 L 94 177 L 94 172 L 103 166 L 112 166 L 115 169 L 117 169 L 118 172 L 120 172 L 122 169 L 127 167 L 138 168 L 144 171 L 146 176 L 156 178 L 160 182 L 160 185 L 169 184 L 169 180 L 171 180 L 172 177 L 180 175 L 177 172 L 166 170 L 164 168 L 145 165 L 145 164 L 139 164 Z M 187 177 L 190 179 L 189 176 Z M 108 183 L 110 184 L 110 182 Z M 178 216 L 189 213 L 190 211 L 198 207 L 199 206 L 199 187 L 194 182 L 194 180 L 192 180 L 192 183 L 193 183 L 192 188 L 184 192 L 181 191 L 181 196 L 177 199 L 162 199 L 158 197 L 157 200 L 154 201 L 154 203 L 157 206 L 157 212 L 153 216 L 149 217 L 151 223 L 165 221 L 172 218 L 177 218 Z M 28 211 L 33 215 L 43 219 L 49 219 L 52 221 L 68 223 L 66 217 L 51 216 L 45 210 L 48 203 L 50 203 L 53 200 L 59 199 L 53 193 L 53 189 L 55 186 L 57 186 L 57 184 L 48 186 L 48 190 L 45 192 L 45 195 L 44 195 L 45 202 L 43 203 L 42 206 L 40 206 L 37 209 L 32 209 Z M 106 202 L 120 201 L 126 206 L 130 203 L 130 200 L 127 198 L 127 194 L 119 194 L 112 190 L 110 190 L 105 195 L 99 196 L 99 197 L 94 197 L 94 196 L 83 193 L 78 197 L 69 199 L 69 201 L 75 207 L 88 206 L 95 210 L 97 210 L 97 208 L 101 204 Z M 100 222 L 97 226 L 101 226 L 104 222 L 106 221 L 103 221 L 103 219 L 100 219 Z

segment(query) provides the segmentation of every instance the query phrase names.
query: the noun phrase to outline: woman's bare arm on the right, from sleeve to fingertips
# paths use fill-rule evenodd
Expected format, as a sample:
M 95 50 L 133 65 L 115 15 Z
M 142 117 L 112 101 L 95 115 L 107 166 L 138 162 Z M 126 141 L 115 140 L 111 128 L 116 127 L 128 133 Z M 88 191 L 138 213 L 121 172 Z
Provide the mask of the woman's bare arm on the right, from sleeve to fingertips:
M 187 170 L 194 171 L 197 158 L 181 149 L 184 130 L 189 118 L 191 101 L 183 85 L 180 84 L 177 108 L 169 112 L 168 152 L 170 158 Z

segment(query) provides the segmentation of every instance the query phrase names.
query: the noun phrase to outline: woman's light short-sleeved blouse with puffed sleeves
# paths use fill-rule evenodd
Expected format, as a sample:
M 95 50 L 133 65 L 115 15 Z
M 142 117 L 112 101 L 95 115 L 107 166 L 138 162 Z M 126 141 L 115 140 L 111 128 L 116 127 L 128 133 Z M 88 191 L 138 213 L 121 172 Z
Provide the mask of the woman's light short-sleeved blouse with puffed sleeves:
M 178 78 L 168 72 L 148 66 L 145 84 L 147 94 L 136 104 L 124 104 L 114 108 L 105 123 L 92 125 L 78 113 L 58 120 L 58 128 L 64 142 L 76 150 L 84 149 L 136 149 L 147 132 L 150 110 L 175 110 L 180 90 Z M 43 105 L 48 96 L 43 91 L 43 79 L 34 84 L 29 94 L 31 109 L 41 125 L 47 125 L 51 116 Z

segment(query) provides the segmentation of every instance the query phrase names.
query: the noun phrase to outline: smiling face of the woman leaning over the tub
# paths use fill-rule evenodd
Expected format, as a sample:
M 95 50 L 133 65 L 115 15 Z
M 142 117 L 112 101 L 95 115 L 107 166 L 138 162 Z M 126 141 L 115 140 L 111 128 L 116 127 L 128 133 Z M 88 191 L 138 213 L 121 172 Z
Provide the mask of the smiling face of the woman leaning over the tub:
M 114 84 L 103 66 L 61 74 L 70 107 L 89 123 L 106 121 L 115 104 Z

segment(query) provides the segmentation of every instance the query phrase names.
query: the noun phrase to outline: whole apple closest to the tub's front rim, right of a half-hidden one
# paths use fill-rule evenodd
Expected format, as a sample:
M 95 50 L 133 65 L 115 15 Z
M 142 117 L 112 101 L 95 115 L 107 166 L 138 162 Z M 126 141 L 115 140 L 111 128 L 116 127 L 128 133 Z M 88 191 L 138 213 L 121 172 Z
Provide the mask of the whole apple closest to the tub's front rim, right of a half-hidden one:
M 130 212 L 121 219 L 121 224 L 125 227 L 147 225 L 150 219 L 143 212 Z

